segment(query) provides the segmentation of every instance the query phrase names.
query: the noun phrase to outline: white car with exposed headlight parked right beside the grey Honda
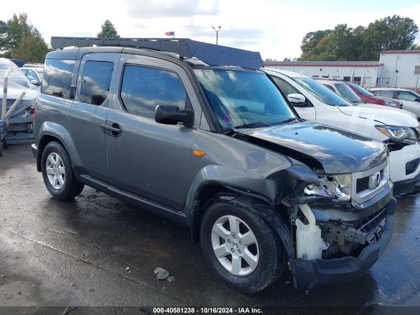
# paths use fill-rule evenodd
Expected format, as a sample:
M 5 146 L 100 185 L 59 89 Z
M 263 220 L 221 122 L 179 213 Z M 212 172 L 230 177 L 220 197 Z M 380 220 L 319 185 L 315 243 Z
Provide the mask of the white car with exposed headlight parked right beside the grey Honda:
M 386 143 L 395 195 L 412 191 L 420 181 L 420 125 L 413 113 L 388 106 L 353 105 L 322 85 L 321 80 L 279 69 L 263 71 L 271 76 L 302 118 Z M 350 90 L 342 85 L 347 87 L 346 91 Z

